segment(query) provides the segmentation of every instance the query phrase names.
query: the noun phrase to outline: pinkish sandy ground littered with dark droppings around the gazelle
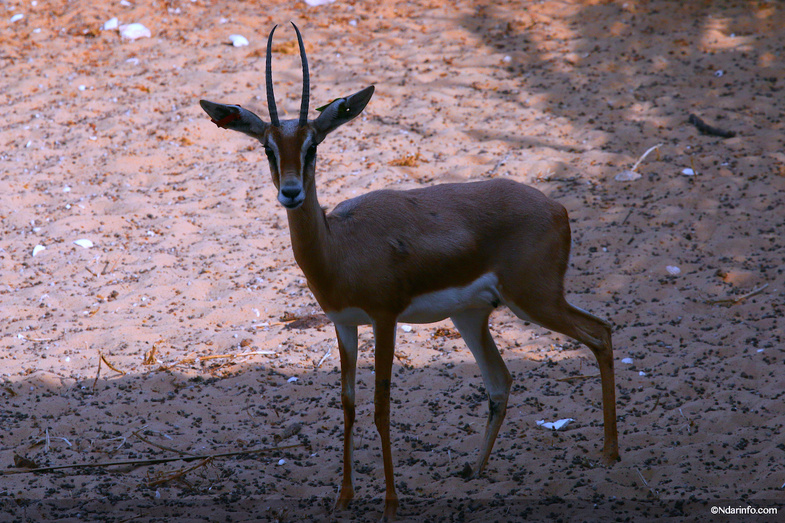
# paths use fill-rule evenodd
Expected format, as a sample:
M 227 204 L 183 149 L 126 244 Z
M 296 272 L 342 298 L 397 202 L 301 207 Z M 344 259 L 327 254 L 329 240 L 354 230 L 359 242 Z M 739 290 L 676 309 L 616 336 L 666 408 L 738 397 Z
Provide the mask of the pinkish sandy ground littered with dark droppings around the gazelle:
M 0 518 L 380 516 L 370 331 L 358 498 L 330 515 L 334 333 L 294 263 L 263 151 L 197 104 L 267 118 L 265 40 L 289 20 L 307 42 L 312 108 L 376 85 L 364 116 L 319 149 L 324 205 L 447 181 L 531 184 L 570 212 L 570 301 L 615 325 L 622 461 L 598 465 L 588 349 L 498 311 L 515 385 L 487 472 L 470 481 L 459 473 L 487 413 L 479 371 L 451 324 L 401 328 L 401 520 L 737 521 L 710 507 L 748 504 L 781 517 L 782 4 L 87 4 L 2 3 Z M 102 30 L 112 17 L 152 36 Z M 293 44 L 279 31 L 284 118 L 299 107 Z M 700 134 L 690 114 L 736 136 Z M 615 179 L 657 144 L 639 179 Z M 536 424 L 562 418 L 575 421 Z

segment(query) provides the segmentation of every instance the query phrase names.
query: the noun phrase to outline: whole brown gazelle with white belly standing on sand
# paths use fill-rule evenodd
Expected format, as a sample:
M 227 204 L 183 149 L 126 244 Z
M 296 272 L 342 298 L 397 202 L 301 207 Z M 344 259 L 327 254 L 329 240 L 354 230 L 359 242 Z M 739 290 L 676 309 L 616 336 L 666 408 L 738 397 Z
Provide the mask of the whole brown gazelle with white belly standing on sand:
M 346 508 L 354 496 L 358 325 L 372 325 L 376 339 L 374 421 L 384 460 L 383 520 L 394 519 L 398 508 L 390 449 L 390 378 L 399 321 L 450 318 L 477 360 L 490 408 L 475 475 L 488 462 L 512 384 L 488 330 L 488 318 L 500 305 L 592 350 L 602 381 L 602 456 L 608 464 L 618 460 L 611 327 L 564 298 L 570 251 L 564 207 L 536 189 L 497 179 L 373 191 L 325 214 L 316 195 L 316 148 L 362 112 L 374 87 L 334 100 L 309 120 L 308 61 L 300 31 L 294 29 L 303 68 L 297 120 L 278 119 L 271 66 L 275 27 L 267 40 L 265 73 L 270 122 L 239 105 L 200 104 L 219 127 L 245 133 L 264 146 L 278 201 L 287 211 L 295 260 L 335 323 L 344 412 L 343 482 L 336 509 Z

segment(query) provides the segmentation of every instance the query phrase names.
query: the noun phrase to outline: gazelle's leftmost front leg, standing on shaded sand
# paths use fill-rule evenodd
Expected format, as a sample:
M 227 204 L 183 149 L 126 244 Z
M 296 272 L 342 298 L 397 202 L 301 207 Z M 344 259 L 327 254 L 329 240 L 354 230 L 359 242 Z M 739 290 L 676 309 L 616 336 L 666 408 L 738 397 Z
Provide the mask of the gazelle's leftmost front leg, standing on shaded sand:
M 357 326 L 335 324 L 341 356 L 341 405 L 343 406 L 343 481 L 335 510 L 344 510 L 354 497 L 352 457 L 354 441 L 354 386 L 357 376 Z

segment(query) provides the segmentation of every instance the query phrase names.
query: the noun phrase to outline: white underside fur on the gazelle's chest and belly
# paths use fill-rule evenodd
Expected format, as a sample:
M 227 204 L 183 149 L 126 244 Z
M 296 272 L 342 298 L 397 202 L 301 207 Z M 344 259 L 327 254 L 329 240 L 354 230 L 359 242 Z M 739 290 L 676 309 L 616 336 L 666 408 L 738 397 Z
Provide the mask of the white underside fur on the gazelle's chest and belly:
M 415 296 L 398 321 L 406 323 L 433 323 L 449 318 L 467 309 L 493 309 L 502 303 L 498 289 L 499 279 L 492 272 L 483 274 L 464 287 L 449 287 L 440 291 Z M 371 317 L 364 310 L 349 307 L 327 314 L 334 323 L 342 325 L 369 325 Z

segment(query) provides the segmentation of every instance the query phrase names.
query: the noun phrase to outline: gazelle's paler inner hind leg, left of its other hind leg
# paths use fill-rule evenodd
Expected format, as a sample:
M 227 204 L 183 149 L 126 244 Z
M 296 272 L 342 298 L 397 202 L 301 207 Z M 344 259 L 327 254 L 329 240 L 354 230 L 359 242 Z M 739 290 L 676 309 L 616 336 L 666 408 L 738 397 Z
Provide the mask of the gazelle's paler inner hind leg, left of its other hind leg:
M 450 318 L 477 361 L 488 392 L 488 424 L 474 476 L 479 476 L 488 463 L 496 436 L 507 414 L 507 399 L 512 387 L 512 376 L 488 330 L 489 315 L 489 310 L 469 309 Z

